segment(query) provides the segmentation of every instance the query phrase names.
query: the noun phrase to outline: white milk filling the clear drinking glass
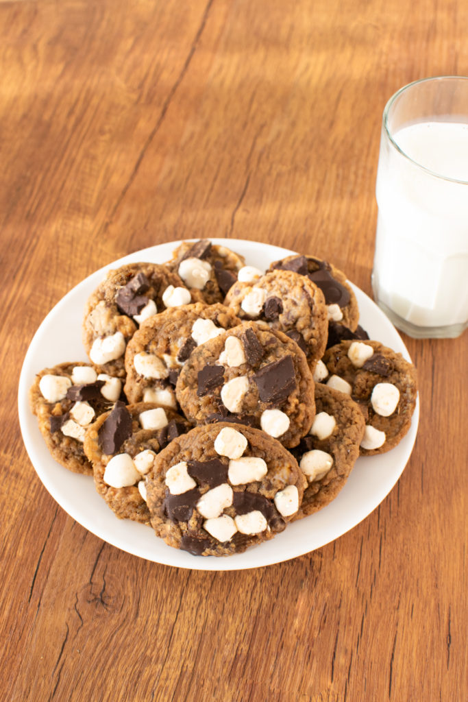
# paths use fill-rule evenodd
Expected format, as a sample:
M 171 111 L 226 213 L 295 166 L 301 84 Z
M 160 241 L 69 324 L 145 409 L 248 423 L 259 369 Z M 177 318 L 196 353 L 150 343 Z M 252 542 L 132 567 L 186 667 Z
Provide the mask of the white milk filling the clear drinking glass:
M 406 155 L 382 134 L 376 185 L 375 298 L 417 327 L 464 326 L 468 320 L 468 124 L 420 122 L 396 131 L 393 139 Z M 398 326 L 405 329 L 404 324 Z

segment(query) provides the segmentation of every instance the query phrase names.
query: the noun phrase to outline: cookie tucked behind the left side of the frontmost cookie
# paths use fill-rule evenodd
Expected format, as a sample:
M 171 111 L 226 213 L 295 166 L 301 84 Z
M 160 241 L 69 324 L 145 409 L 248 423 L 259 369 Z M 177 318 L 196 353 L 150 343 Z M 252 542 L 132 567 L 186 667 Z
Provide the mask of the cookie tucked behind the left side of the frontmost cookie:
M 189 428 L 185 418 L 152 402 L 116 402 L 88 428 L 84 451 L 96 489 L 119 519 L 149 524 L 145 479 L 156 454 Z

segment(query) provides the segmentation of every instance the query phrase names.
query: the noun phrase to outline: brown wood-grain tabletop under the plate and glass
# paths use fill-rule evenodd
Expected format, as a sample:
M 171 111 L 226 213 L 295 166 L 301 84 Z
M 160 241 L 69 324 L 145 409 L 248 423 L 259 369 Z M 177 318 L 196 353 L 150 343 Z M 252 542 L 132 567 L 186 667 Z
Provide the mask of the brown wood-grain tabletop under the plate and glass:
M 422 416 L 380 507 L 262 569 L 100 541 L 44 489 L 16 412 L 41 320 L 131 251 L 253 239 L 370 294 L 383 107 L 413 79 L 466 74 L 467 31 L 456 0 L 0 3 L 5 700 L 467 698 L 466 334 L 403 337 Z

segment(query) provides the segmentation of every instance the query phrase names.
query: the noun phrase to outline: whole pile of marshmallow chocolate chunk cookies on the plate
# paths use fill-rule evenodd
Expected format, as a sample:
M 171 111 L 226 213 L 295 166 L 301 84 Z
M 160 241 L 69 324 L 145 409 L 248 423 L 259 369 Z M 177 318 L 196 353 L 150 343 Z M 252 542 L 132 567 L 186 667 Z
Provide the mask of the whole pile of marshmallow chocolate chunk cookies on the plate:
M 203 239 L 112 270 L 86 303 L 89 363 L 36 376 L 55 460 L 117 517 L 194 555 L 231 555 L 335 498 L 389 451 L 415 369 L 369 340 L 345 274 L 314 256 L 266 272 Z

